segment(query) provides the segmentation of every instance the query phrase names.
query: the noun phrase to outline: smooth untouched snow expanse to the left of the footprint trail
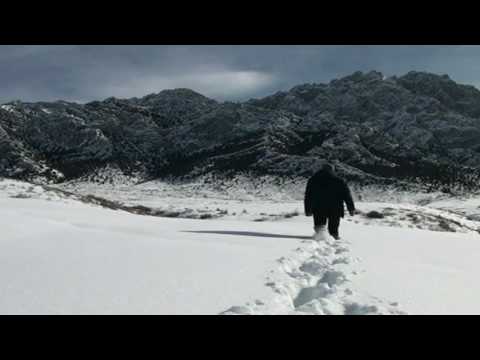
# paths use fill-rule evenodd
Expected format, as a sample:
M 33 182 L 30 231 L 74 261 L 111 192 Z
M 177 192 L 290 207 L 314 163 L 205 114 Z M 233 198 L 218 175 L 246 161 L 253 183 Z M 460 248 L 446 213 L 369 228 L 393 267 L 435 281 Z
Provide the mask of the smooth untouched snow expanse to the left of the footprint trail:
M 219 313 L 269 291 L 263 276 L 298 239 L 242 222 L 133 215 L 2 199 L 0 313 Z

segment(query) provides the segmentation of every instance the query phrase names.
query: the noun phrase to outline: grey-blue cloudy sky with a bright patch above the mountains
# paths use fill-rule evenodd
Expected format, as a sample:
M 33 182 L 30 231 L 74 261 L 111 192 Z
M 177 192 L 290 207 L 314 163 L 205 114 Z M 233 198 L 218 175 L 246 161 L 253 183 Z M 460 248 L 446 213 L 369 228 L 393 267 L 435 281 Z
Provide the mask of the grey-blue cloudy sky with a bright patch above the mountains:
M 0 45 L 0 103 L 86 102 L 178 87 L 235 101 L 357 70 L 429 71 L 480 87 L 480 46 Z

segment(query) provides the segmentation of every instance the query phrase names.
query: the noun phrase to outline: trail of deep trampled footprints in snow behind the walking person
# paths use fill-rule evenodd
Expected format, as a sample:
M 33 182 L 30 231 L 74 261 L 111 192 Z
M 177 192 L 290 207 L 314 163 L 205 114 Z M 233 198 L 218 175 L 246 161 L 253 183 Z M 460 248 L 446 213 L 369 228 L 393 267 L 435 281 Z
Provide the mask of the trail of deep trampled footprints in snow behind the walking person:
M 304 240 L 289 258 L 277 260 L 280 271 L 267 278 L 274 292 L 269 301 L 233 306 L 224 315 L 400 315 L 396 302 L 385 302 L 354 289 L 361 261 L 350 256 L 348 241 L 325 232 Z

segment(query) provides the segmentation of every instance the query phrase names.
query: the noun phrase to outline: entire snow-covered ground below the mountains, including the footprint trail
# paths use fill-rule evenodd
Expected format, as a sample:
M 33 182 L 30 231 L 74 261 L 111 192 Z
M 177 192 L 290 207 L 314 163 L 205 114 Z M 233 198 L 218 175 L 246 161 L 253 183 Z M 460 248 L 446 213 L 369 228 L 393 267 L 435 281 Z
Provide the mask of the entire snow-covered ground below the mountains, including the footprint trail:
M 0 180 L 0 314 L 480 314 L 476 199 L 358 202 L 334 241 L 288 185 L 63 186 L 166 218 Z

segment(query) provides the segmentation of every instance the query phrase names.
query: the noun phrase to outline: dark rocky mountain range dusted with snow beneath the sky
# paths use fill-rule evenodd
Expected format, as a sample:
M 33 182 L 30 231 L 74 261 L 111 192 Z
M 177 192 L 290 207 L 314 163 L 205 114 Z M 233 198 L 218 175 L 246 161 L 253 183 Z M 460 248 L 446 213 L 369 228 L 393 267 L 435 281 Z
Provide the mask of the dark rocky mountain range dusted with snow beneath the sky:
M 480 91 L 448 76 L 356 72 L 243 103 L 192 90 L 0 108 L 0 175 L 64 181 L 108 166 L 142 179 L 307 176 L 477 188 Z

